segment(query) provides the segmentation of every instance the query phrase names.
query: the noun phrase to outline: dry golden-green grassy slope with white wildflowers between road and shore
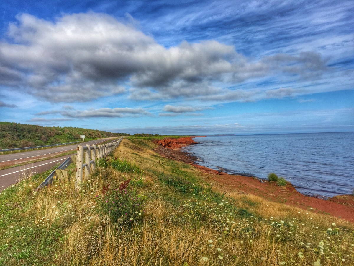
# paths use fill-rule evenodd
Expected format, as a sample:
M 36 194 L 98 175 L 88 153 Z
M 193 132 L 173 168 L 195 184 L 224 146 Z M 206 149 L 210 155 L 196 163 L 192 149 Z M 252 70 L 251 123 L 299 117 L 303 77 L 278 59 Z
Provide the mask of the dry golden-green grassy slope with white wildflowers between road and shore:
M 217 191 L 154 147 L 123 139 L 79 192 L 73 165 L 2 191 L 0 265 L 354 265 L 352 223 Z

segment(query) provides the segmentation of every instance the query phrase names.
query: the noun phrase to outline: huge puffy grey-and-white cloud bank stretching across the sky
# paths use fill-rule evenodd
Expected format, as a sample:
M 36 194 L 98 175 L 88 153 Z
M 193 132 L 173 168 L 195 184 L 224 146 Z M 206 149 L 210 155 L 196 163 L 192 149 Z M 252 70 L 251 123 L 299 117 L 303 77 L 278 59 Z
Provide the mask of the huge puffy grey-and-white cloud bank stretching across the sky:
M 21 14 L 17 20 L 8 28 L 10 41 L 0 42 L 0 84 L 52 102 L 124 93 L 134 100 L 247 99 L 249 92 L 224 87 L 279 71 L 306 78 L 325 71 L 313 52 L 254 61 L 215 40 L 165 48 L 133 24 L 102 13 L 63 15 L 54 22 Z

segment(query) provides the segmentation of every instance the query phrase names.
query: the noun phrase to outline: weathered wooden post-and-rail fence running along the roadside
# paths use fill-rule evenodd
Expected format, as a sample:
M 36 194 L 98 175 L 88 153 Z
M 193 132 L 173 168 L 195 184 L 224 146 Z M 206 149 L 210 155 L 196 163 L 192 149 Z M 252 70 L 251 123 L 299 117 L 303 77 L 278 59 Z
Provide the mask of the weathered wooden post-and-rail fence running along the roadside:
M 113 143 L 107 143 L 102 145 L 86 145 L 78 146 L 78 153 L 76 155 L 76 180 L 75 188 L 76 190 L 80 189 L 80 183 L 82 182 L 82 174 L 85 173 L 85 178 L 90 177 L 90 173 L 95 170 L 96 159 L 101 159 L 110 154 L 115 148 L 118 147 L 120 141 Z M 85 159 L 85 163 L 84 163 Z

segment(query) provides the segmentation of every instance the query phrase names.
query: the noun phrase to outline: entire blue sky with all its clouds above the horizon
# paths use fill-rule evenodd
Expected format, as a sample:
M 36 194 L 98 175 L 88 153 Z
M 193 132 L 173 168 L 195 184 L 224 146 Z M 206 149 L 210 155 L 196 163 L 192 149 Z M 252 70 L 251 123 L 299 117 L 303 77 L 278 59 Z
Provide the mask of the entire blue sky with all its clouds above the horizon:
M 0 121 L 354 131 L 354 1 L 2 1 Z

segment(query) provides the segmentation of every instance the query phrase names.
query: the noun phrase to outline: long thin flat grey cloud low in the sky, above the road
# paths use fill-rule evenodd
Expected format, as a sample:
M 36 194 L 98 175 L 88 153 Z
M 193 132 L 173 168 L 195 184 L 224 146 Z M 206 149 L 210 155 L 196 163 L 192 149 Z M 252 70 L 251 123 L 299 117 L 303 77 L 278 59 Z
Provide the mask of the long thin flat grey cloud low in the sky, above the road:
M 39 112 L 36 115 L 54 115 L 59 114 L 70 118 L 88 118 L 88 117 L 125 117 L 137 115 L 152 115 L 143 108 L 99 108 L 89 110 L 75 110 L 74 108 L 63 110 L 51 110 Z

